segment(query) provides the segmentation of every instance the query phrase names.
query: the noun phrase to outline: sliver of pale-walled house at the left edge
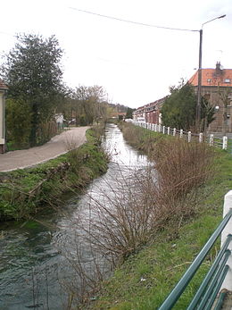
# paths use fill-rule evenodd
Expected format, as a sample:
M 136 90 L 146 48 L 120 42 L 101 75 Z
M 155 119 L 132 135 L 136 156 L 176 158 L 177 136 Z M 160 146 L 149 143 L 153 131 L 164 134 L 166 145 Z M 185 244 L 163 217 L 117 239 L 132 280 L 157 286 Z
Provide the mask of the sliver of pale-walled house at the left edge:
M 6 90 L 6 85 L 3 80 L 0 80 L 0 153 L 5 152 L 4 98 Z

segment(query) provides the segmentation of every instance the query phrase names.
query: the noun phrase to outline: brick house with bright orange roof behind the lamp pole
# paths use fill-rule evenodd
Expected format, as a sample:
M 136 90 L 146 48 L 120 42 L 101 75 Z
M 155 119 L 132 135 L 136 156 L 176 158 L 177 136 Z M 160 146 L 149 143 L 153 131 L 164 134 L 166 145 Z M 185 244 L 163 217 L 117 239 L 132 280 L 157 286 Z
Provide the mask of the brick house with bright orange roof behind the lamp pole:
M 197 92 L 198 71 L 188 82 Z M 215 69 L 202 69 L 202 96 L 215 107 L 215 120 L 208 130 L 223 134 L 232 132 L 232 69 L 223 69 L 219 62 Z

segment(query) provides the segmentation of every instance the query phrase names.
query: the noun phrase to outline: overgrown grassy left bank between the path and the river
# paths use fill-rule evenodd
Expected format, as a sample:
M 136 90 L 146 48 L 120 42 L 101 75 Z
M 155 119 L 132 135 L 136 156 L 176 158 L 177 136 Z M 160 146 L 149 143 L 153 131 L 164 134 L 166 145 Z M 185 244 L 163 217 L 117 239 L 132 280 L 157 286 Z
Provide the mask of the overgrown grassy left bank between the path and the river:
M 87 130 L 87 143 L 35 167 L 0 172 L 0 222 L 25 219 L 42 205 L 53 207 L 62 194 L 83 189 L 107 170 L 99 129 Z

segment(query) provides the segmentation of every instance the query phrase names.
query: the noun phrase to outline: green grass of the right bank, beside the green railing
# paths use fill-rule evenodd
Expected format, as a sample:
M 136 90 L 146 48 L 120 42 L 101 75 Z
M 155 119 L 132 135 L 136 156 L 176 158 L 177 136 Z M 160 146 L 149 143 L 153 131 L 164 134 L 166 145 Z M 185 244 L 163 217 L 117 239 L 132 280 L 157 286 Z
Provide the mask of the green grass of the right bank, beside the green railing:
M 160 134 L 141 128 L 123 130 L 133 146 L 150 155 L 157 141 L 163 139 Z M 215 173 L 197 189 L 195 213 L 181 224 L 176 222 L 176 226 L 172 222 L 138 253 L 128 256 L 112 278 L 104 281 L 97 300 L 88 308 L 149 310 L 161 306 L 222 219 L 223 197 L 232 188 L 232 156 L 215 150 L 213 164 Z M 186 309 L 219 247 L 218 242 L 174 309 Z

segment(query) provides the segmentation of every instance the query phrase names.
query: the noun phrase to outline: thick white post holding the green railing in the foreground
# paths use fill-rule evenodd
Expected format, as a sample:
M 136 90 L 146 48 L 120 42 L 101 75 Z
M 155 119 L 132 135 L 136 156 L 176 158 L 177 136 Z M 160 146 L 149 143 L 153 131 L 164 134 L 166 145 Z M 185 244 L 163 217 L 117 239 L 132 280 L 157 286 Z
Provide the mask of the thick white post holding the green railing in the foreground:
M 229 190 L 228 193 L 224 197 L 223 217 L 225 217 L 228 214 L 228 211 L 230 208 L 232 208 L 232 190 Z M 222 230 L 221 232 L 221 246 L 227 239 L 228 235 L 231 234 L 231 231 L 232 231 L 232 217 L 228 221 L 224 230 Z M 232 241 L 229 243 L 228 249 L 232 250 Z M 221 289 L 232 290 L 232 256 L 231 255 L 228 256 L 227 264 L 229 266 L 228 273 L 220 287 L 220 290 Z

